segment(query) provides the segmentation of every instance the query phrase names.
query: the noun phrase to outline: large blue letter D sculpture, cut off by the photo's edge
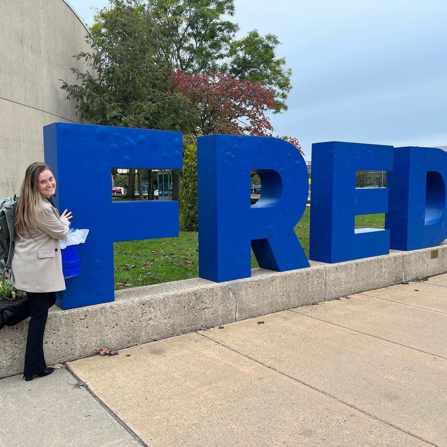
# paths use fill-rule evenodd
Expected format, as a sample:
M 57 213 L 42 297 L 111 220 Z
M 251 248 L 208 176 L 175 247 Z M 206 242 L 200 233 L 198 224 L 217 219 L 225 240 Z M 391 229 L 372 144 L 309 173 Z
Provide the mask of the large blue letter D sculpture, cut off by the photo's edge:
M 416 250 L 447 238 L 447 153 L 436 148 L 395 148 L 388 173 L 390 247 Z

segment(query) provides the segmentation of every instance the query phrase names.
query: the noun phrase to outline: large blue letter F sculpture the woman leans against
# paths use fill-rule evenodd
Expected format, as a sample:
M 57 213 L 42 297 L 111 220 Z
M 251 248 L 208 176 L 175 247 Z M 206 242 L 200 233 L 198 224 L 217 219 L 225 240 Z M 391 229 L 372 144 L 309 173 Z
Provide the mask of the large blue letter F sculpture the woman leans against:
M 111 168 L 181 169 L 181 133 L 57 122 L 43 135 L 56 206 L 73 212 L 74 228 L 90 230 L 79 247 L 81 274 L 67 279 L 57 304 L 113 301 L 113 242 L 178 236 L 178 202 L 112 202 Z

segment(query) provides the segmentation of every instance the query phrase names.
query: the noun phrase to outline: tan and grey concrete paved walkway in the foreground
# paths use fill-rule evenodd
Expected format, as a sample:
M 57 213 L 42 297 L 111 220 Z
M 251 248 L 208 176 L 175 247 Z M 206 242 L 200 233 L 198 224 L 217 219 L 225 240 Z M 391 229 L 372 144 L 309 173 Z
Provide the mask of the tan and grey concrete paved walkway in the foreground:
M 0 380 L 0 446 L 447 446 L 446 342 L 444 274 Z

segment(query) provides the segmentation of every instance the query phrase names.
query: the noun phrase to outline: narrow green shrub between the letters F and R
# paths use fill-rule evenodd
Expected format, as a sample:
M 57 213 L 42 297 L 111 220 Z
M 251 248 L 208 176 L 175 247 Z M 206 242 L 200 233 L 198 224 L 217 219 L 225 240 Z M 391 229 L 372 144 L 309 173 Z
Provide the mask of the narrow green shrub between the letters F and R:
M 183 172 L 180 188 L 180 216 L 186 231 L 198 230 L 197 217 L 197 142 L 183 149 Z

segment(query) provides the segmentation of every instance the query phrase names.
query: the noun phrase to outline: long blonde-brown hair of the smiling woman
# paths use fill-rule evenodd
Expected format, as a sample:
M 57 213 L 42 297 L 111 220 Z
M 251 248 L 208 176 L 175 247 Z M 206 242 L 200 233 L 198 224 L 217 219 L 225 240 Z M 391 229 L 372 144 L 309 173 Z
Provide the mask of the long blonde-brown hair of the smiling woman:
M 23 239 L 32 237 L 32 232 L 37 228 L 36 208 L 46 212 L 43 207 L 42 194 L 37 189 L 37 179 L 39 174 L 47 169 L 51 173 L 53 172 L 50 166 L 40 161 L 30 164 L 26 168 L 14 217 L 16 236 Z

